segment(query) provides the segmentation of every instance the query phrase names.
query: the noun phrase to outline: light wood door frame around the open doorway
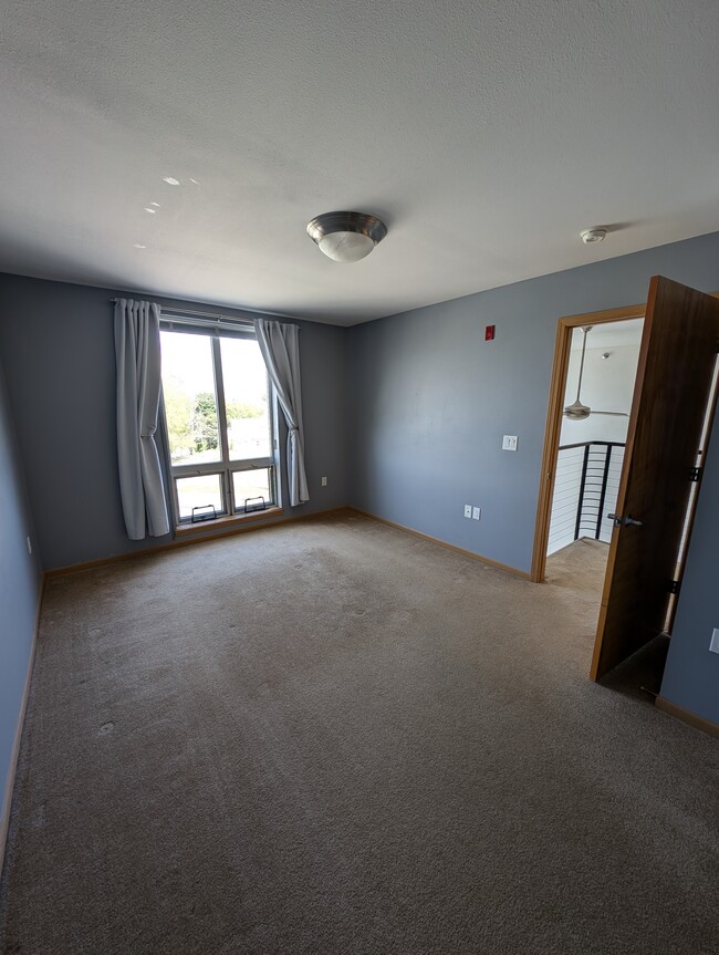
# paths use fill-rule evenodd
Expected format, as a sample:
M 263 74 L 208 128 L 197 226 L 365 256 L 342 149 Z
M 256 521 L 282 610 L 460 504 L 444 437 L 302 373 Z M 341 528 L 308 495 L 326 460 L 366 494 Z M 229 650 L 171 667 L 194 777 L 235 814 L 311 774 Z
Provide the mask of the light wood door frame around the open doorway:
M 639 305 L 626 305 L 623 309 L 605 309 L 601 312 L 565 315 L 558 321 L 536 502 L 534 549 L 532 551 L 532 567 L 530 571 L 530 580 L 534 581 L 534 583 L 542 583 L 546 571 L 546 546 L 550 536 L 554 477 L 560 449 L 560 433 L 562 430 L 562 413 L 564 411 L 564 395 L 566 392 L 566 374 L 570 366 L 572 332 L 574 329 L 580 329 L 583 325 L 602 325 L 608 322 L 643 319 L 646 309 L 647 305 L 644 302 Z

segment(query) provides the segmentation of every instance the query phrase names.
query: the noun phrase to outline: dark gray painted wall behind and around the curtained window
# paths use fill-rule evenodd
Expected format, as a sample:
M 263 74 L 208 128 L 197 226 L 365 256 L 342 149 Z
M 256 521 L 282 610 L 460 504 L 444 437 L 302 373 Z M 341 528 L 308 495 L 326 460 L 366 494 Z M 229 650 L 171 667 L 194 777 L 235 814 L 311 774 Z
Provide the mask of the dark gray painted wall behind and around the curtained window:
M 115 446 L 116 290 L 0 276 L 0 352 L 44 569 L 156 547 L 129 541 L 118 499 Z M 231 309 L 168 299 L 164 304 Z M 345 332 L 299 322 L 311 500 L 288 517 L 347 502 Z M 281 436 L 285 432 L 282 427 Z M 327 486 L 321 487 L 321 476 Z M 283 477 L 286 502 L 286 479 Z

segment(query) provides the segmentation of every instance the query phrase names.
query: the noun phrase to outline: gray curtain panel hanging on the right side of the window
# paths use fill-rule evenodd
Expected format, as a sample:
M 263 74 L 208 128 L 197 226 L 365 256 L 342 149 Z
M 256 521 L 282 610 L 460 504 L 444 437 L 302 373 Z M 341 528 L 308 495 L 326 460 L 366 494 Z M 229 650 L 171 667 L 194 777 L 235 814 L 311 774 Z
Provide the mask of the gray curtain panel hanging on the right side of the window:
M 288 424 L 288 484 L 290 504 L 296 507 L 310 500 L 304 471 L 300 329 L 282 322 L 254 319 L 254 333 Z

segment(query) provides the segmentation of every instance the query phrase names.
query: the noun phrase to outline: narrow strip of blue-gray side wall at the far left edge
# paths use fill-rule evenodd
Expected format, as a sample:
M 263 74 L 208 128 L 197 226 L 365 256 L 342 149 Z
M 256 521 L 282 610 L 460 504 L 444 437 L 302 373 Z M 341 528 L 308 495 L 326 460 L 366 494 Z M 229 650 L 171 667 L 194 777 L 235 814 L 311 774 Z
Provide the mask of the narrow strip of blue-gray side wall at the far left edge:
M 0 312 L 1 314 L 1 312 Z M 25 500 L 0 365 L 0 799 L 4 797 L 30 663 L 40 568 L 25 537 L 34 531 Z M 8 806 L 2 807 L 2 818 Z M 0 853 L 2 847 L 0 847 Z

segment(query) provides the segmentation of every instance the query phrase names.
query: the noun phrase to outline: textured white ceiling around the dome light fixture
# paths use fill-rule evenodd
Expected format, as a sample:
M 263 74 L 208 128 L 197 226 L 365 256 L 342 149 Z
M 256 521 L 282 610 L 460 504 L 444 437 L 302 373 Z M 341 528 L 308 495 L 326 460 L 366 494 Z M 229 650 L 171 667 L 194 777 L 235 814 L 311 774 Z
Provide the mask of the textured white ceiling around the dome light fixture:
M 716 0 L 3 7 L 6 271 L 352 324 L 719 229 Z

